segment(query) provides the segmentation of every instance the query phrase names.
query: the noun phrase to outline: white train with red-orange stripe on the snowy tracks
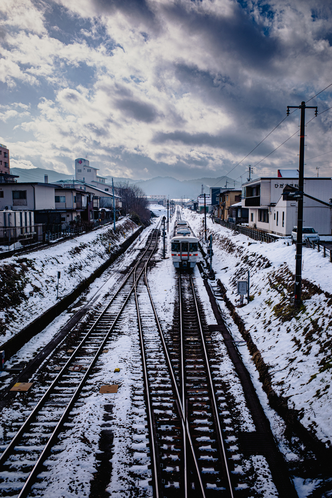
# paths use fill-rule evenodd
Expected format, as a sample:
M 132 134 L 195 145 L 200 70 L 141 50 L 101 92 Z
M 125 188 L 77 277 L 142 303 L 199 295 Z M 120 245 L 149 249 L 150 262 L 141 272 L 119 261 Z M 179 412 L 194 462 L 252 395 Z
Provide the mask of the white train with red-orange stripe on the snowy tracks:
M 175 268 L 195 268 L 198 259 L 198 240 L 186 221 L 175 222 L 171 243 Z

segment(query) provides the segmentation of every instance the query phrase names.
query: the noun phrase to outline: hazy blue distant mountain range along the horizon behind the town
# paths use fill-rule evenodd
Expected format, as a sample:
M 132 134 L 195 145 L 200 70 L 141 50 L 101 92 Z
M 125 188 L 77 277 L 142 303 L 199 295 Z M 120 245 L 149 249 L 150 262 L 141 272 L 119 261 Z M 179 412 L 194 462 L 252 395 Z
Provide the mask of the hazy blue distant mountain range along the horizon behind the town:
M 58 180 L 72 179 L 72 175 L 66 175 L 64 173 L 58 173 L 51 169 L 43 168 L 33 168 L 33 169 L 23 169 L 23 168 L 10 168 L 13 175 L 18 175 L 18 182 L 44 182 L 44 175 L 48 175 L 48 182 L 56 182 Z M 106 177 L 107 181 L 111 183 L 112 177 Z M 204 192 L 209 194 L 210 187 L 222 187 L 224 188 L 227 181 L 227 187 L 229 188 L 239 188 L 241 184 L 234 181 L 228 176 L 220 176 L 218 178 L 197 178 L 195 180 L 177 180 L 172 176 L 156 176 L 155 178 L 150 178 L 149 180 L 133 180 L 132 178 L 119 178 L 113 177 L 114 183 L 116 182 L 129 182 L 135 183 L 145 192 L 146 195 L 166 195 L 170 199 L 178 199 L 180 197 L 186 197 L 190 199 L 195 199 L 201 193 L 202 185 L 204 187 Z

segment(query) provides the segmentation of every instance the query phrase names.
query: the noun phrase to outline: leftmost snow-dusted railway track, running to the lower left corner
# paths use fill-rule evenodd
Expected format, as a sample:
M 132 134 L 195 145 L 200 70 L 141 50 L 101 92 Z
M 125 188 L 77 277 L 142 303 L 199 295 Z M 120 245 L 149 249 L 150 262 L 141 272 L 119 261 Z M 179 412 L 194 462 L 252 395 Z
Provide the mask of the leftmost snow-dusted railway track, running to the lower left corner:
M 98 317 L 88 327 L 86 324 L 82 327 L 78 344 L 67 351 L 60 346 L 49 362 L 43 385 L 31 388 L 33 397 L 26 406 L 29 415 L 24 420 L 15 421 L 19 428 L 10 442 L 2 447 L 0 497 L 23 498 L 29 495 L 45 459 L 57 443 L 65 423 L 70 420 L 74 406 L 77 408 L 84 403 L 84 388 L 111 334 L 120 325 L 121 314 L 157 248 L 159 229 L 158 224 L 147 248 Z M 9 435 L 10 430 L 7 438 Z

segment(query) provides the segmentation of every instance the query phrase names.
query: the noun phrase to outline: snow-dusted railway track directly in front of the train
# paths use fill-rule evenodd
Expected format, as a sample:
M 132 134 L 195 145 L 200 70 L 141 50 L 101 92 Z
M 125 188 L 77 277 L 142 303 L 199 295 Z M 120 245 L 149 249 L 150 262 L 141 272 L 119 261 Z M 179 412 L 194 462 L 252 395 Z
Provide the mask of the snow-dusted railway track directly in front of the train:
M 179 272 L 179 329 L 177 347 L 178 382 L 186 407 L 199 473 L 206 497 L 222 494 L 234 496 L 238 487 L 231 479 L 228 458 L 231 442 L 222 435 L 220 412 L 224 408 L 223 392 L 213 378 L 208 356 L 210 331 L 201 320 L 194 281 L 191 274 Z M 175 338 L 174 338 L 175 339 Z M 226 455 L 227 453 L 227 455 Z M 192 475 L 195 489 L 199 489 Z

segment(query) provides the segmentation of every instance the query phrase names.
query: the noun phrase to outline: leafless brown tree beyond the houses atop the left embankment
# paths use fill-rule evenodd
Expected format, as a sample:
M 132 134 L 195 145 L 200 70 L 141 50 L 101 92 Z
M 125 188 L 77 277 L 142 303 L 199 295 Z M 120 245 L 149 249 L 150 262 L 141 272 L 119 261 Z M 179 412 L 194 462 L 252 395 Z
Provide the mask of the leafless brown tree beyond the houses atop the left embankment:
M 148 201 L 145 192 L 135 185 L 129 185 L 129 182 L 118 182 L 115 184 L 117 195 L 122 200 L 122 213 L 130 214 L 130 218 L 135 222 L 148 223 L 151 218 L 151 212 L 147 208 Z

